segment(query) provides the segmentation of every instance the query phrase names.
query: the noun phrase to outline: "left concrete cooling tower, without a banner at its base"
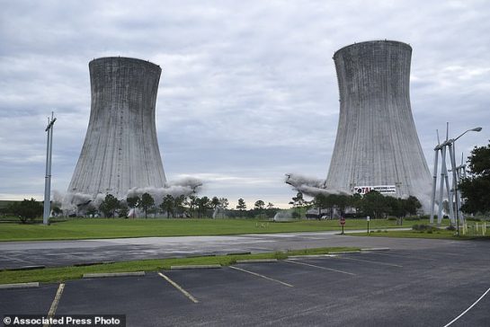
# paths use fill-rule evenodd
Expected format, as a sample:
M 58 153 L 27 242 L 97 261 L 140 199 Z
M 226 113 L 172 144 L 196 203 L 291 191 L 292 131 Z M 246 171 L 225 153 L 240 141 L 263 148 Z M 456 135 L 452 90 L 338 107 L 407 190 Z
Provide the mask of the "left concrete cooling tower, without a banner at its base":
M 68 192 L 125 199 L 134 187 L 164 187 L 155 126 L 162 69 L 128 57 L 94 59 L 89 69 L 90 120 Z

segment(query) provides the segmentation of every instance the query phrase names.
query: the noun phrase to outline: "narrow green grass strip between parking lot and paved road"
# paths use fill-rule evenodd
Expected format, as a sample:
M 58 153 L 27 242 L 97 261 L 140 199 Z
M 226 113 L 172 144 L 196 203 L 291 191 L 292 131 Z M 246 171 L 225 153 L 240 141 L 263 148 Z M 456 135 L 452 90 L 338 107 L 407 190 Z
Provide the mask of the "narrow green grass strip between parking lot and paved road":
M 237 260 L 250 259 L 286 259 L 289 255 L 322 254 L 344 251 L 359 251 L 359 248 L 336 247 L 316 248 L 288 252 L 269 252 L 244 255 L 222 255 L 216 257 L 195 257 L 180 259 L 155 259 L 142 261 L 121 261 L 115 263 L 98 264 L 85 267 L 61 267 L 40 270 L 3 270 L 0 271 L 0 284 L 27 283 L 39 281 L 41 283 L 62 282 L 69 279 L 78 279 L 86 273 L 103 272 L 131 272 L 131 271 L 157 271 L 169 270 L 170 266 L 197 265 L 197 264 L 220 264 L 229 266 Z

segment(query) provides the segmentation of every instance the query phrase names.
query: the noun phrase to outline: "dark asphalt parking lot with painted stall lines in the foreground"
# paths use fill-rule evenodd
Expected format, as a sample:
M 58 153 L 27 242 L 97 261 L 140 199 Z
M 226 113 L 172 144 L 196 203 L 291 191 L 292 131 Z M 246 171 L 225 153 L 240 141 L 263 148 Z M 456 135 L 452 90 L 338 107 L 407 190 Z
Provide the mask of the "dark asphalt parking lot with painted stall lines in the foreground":
M 450 325 L 490 325 L 487 242 L 160 273 L 181 289 L 157 272 L 67 281 L 56 314 L 126 314 L 128 326 L 446 326 L 464 313 Z M 48 314 L 57 289 L 0 290 L 0 311 Z

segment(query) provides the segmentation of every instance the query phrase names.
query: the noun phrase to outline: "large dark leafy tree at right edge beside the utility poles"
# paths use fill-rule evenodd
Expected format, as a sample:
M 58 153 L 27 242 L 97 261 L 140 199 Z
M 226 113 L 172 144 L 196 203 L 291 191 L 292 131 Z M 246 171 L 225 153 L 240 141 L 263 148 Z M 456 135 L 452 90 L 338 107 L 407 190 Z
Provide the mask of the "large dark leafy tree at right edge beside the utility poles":
M 490 143 L 488 146 L 475 146 L 468 156 L 467 178 L 459 183 L 464 204 L 461 210 L 468 214 L 490 211 Z

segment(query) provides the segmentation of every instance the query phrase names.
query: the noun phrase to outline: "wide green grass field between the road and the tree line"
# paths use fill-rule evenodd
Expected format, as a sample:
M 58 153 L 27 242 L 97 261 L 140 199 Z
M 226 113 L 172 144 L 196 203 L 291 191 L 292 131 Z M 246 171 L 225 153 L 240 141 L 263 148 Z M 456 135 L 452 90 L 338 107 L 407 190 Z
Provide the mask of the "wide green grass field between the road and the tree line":
M 403 226 L 427 224 L 405 221 Z M 347 219 L 345 230 L 364 229 L 364 219 Z M 370 229 L 400 227 L 396 221 L 370 221 Z M 299 220 L 274 223 L 255 219 L 91 219 L 77 218 L 51 225 L 0 224 L 0 241 L 81 240 L 94 238 L 263 234 L 340 231 L 338 220 Z

